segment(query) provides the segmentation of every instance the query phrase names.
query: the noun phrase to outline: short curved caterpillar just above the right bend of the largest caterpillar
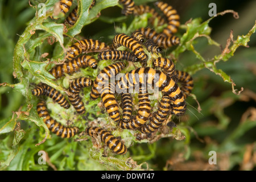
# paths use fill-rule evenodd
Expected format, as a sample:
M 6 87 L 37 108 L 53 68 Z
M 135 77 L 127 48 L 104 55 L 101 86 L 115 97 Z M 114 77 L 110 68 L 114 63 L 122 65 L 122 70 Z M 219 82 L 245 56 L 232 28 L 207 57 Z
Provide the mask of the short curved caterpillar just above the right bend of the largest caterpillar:
M 167 59 L 165 57 L 158 57 L 157 59 L 153 60 L 153 66 L 163 68 L 163 72 L 170 77 L 174 75 L 175 64 L 170 59 Z

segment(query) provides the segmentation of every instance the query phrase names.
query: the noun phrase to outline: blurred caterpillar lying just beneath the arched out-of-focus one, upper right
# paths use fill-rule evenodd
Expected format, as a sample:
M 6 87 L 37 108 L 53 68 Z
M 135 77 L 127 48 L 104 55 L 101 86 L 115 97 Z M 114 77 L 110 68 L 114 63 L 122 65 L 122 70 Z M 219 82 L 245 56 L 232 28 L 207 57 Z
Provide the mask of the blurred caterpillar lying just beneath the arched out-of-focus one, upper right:
M 180 43 L 179 37 L 175 35 L 164 36 L 163 34 L 158 34 L 155 30 L 153 30 L 150 27 L 140 28 L 138 31 L 140 31 L 145 38 L 152 39 L 156 44 L 158 44 L 158 46 L 163 48 L 176 46 Z

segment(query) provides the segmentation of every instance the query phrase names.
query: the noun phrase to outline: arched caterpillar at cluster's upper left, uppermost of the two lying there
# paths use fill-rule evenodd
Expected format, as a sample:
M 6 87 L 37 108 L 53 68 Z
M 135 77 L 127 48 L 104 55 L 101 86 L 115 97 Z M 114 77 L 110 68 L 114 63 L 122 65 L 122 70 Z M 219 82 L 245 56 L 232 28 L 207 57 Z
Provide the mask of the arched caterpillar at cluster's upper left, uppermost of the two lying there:
M 94 39 L 84 39 L 69 47 L 66 58 L 72 60 L 83 52 L 102 52 L 106 50 L 109 50 L 106 43 Z

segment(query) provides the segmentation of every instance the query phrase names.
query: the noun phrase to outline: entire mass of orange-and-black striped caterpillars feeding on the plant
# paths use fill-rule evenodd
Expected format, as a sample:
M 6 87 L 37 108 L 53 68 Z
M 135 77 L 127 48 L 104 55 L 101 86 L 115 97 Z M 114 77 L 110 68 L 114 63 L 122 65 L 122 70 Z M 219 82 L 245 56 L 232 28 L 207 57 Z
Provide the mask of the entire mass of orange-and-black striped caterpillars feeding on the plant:
M 68 92 L 70 94 L 67 96 L 68 99 L 65 98 L 64 94 L 41 82 L 32 89 L 32 94 L 34 96 L 48 96 L 65 109 L 69 109 L 71 104 L 77 111 L 77 114 L 84 114 L 86 111 L 80 92 L 82 88 L 91 87 L 90 100 L 96 100 L 100 97 L 106 112 L 116 123 L 117 127 L 138 130 L 143 134 L 154 133 L 162 126 L 168 115 L 181 116 L 185 113 L 187 108 L 185 98 L 193 89 L 191 75 L 187 72 L 177 71 L 172 60 L 164 58 L 162 55 L 158 54 L 158 57 L 152 60 L 153 68 L 143 67 L 143 65 L 147 64 L 149 57 L 144 51 L 144 47 L 150 53 L 161 53 L 161 47 L 168 48 L 179 44 L 179 38 L 173 35 L 177 32 L 180 25 L 179 15 L 167 3 L 156 2 L 156 7 L 166 16 L 168 20 L 166 22 L 165 18 L 150 6 L 136 6 L 132 0 L 120 0 L 119 2 L 123 5 L 122 14 L 128 16 L 131 14 L 142 15 L 144 13 L 151 13 L 150 23 L 153 24 L 156 19 L 159 26 L 167 23 L 167 27 L 159 34 L 150 27 L 135 30 L 130 36 L 123 33 L 117 34 L 114 36 L 111 45 L 94 39 L 79 40 L 68 48 L 64 63 L 55 65 L 49 71 L 56 79 L 65 76 L 65 74 L 72 75 L 72 73 L 78 72 L 80 68 L 90 67 L 97 69 L 98 61 L 101 60 L 118 60 L 118 62 L 110 64 L 99 71 L 94 80 L 88 77 L 79 77 L 72 80 L 69 83 Z M 72 0 L 61 0 L 61 11 L 67 14 L 72 3 Z M 96 1 L 93 1 L 90 8 L 95 3 Z M 78 17 L 79 14 L 76 7 L 67 16 L 66 21 L 72 26 Z M 127 50 L 118 50 L 117 48 L 120 46 L 125 47 Z M 86 55 L 84 53 L 93 53 L 93 55 Z M 97 56 L 97 59 L 94 58 L 94 55 Z M 126 61 L 131 63 L 140 62 L 142 67 L 130 70 L 119 80 L 111 82 L 112 77 L 115 77 L 126 68 Z M 133 96 L 129 93 L 129 89 L 134 89 L 136 85 L 139 85 L 138 111 L 137 114 L 133 115 Z M 158 109 L 154 113 L 151 113 L 152 108 L 147 85 L 155 85 L 163 95 L 158 103 Z M 116 99 L 117 89 L 122 90 L 121 109 L 119 109 Z M 66 127 L 52 119 L 48 113 L 45 101 L 38 103 L 37 111 L 48 129 L 57 136 L 70 138 L 79 133 L 78 127 Z M 123 155 L 127 152 L 125 144 L 118 137 L 114 137 L 110 131 L 100 127 L 88 126 L 85 129 L 85 133 L 93 138 L 100 136 L 101 141 L 115 154 Z

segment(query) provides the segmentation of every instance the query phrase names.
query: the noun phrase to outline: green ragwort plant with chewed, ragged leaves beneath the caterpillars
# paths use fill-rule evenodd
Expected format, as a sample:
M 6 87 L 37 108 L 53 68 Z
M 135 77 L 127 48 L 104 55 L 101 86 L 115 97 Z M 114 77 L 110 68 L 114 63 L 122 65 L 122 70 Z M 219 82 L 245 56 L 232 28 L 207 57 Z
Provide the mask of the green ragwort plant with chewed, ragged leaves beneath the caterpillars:
M 197 93 L 199 93 L 201 89 L 200 84 L 195 84 L 195 92 L 192 92 L 192 94 L 189 95 L 189 100 L 187 100 L 187 112 L 189 112 L 189 114 L 184 117 L 168 118 L 158 132 L 144 138 L 138 137 L 138 131 L 117 128 L 116 123 L 114 123 L 112 119 L 108 117 L 105 110 L 102 109 L 100 98 L 91 101 L 89 97 L 90 88 L 84 88 L 82 90 L 82 101 L 85 103 L 86 114 L 77 115 L 75 109 L 72 107 L 68 110 L 63 109 L 63 107 L 60 107 L 57 103 L 47 98 L 47 107 L 51 111 L 51 117 L 63 125 L 79 127 L 80 131 L 84 131 L 87 126 L 92 125 L 112 130 L 113 135 L 121 136 L 123 143 L 129 148 L 127 154 L 122 156 L 115 155 L 106 148 L 100 140 L 96 139 L 96 141 L 92 143 L 91 138 L 83 135 L 83 133 L 71 139 L 62 139 L 52 134 L 43 122 L 43 119 L 40 118 L 36 112 L 36 104 L 41 98 L 33 96 L 31 89 L 39 82 L 43 82 L 63 94 L 70 94 L 68 93 L 69 80 L 81 76 L 94 79 L 99 70 L 112 64 L 110 60 L 102 60 L 98 62 L 98 69 L 87 67 L 80 69 L 80 72 L 76 72 L 72 75 L 65 75 L 65 77 L 59 80 L 55 80 L 55 77 L 48 72 L 54 65 L 63 63 L 65 53 L 67 53 L 69 46 L 77 40 L 87 38 L 86 34 L 82 34 L 82 28 L 95 21 L 112 24 L 112 28 L 95 30 L 96 34 L 93 35 L 94 39 L 106 40 L 111 43 L 115 34 L 125 33 L 130 35 L 131 32 L 138 28 L 147 27 L 148 19 L 152 16 L 150 13 L 140 16 L 123 16 L 120 14 L 117 17 L 110 18 L 108 16 L 102 16 L 101 11 L 117 6 L 120 7 L 121 11 L 123 6 L 120 5 L 117 0 L 97 0 L 96 5 L 90 10 L 89 7 L 92 1 L 81 0 L 77 2 L 79 18 L 77 18 L 73 26 L 68 26 L 64 24 L 64 15 L 56 10 L 58 2 L 57 0 L 30 1 L 30 7 L 26 8 L 26 11 L 24 11 L 26 13 L 23 12 L 24 20 L 20 18 L 20 24 L 26 24 L 26 28 L 23 33 L 19 35 L 18 42 L 14 43 L 13 39 L 13 42 L 9 44 L 9 40 L 7 40 L 7 38 L 4 39 L 5 44 L 8 43 L 10 45 L 7 53 L 11 55 L 11 51 L 13 50 L 14 52 L 13 70 L 9 69 L 5 71 L 5 69 L 1 68 L 1 72 L 2 70 L 5 71 L 2 72 L 1 93 L 6 94 L 10 92 L 9 95 L 7 94 L 9 106 L 6 106 L 6 108 L 8 107 L 9 111 L 13 111 L 12 115 L 6 115 L 4 112 L 7 111 L 7 109 L 1 108 L 1 113 L 4 115 L 3 119 L 0 121 L 0 168 L 2 170 L 169 169 L 168 165 L 171 164 L 171 161 L 174 161 L 173 159 L 168 159 L 169 155 L 165 158 L 166 167 L 164 168 L 156 167 L 154 160 L 156 160 L 156 156 L 166 154 L 167 151 L 173 148 L 176 148 L 177 152 L 181 151 L 181 159 L 183 161 L 188 160 L 192 156 L 191 151 L 193 150 L 193 145 L 191 144 L 191 138 L 195 137 L 194 135 L 196 135 L 197 138 L 200 132 L 203 132 L 191 127 L 192 123 L 196 122 L 196 117 L 192 117 L 193 115 L 200 114 L 201 110 L 210 111 L 212 109 L 211 107 L 214 106 L 216 108 L 216 117 L 222 122 L 215 125 L 213 128 L 225 130 L 226 127 L 228 127 L 228 118 L 223 113 L 225 106 L 220 105 L 220 107 L 218 107 L 217 101 L 214 100 L 214 98 L 208 98 L 207 102 L 199 104 L 198 100 L 201 96 L 197 95 Z M 74 2 L 76 3 L 76 1 Z M 151 1 L 135 1 L 135 3 L 143 4 L 150 2 Z M 26 3 L 27 1 L 20 1 L 20 9 L 22 7 L 24 8 Z M 43 6 L 39 8 L 40 3 L 43 3 Z M 1 8 L 3 9 L 3 3 Z M 18 9 L 18 7 L 16 8 Z M 73 9 L 73 6 L 71 9 Z M 20 10 L 15 11 L 19 12 Z M 234 18 L 239 18 L 238 13 L 233 10 L 217 13 L 217 16 L 224 16 L 230 13 L 233 14 Z M 33 14 L 34 18 L 29 20 Z M 53 19 L 51 16 L 53 16 Z M 196 77 L 197 72 L 203 69 L 213 72 L 216 77 L 221 77 L 222 81 L 228 82 L 230 84 L 230 90 L 233 92 L 233 95 L 229 93 L 223 94 L 218 100 L 221 101 L 221 99 L 229 97 L 231 100 L 236 101 L 243 91 L 243 88 L 237 90 L 232 77 L 218 68 L 217 63 L 223 62 L 226 65 L 232 64 L 229 63 L 230 57 L 236 55 L 235 52 L 239 47 L 248 47 L 250 37 L 255 32 L 256 25 L 254 24 L 246 35 L 238 36 L 237 39 L 233 38 L 233 32 L 231 31 L 225 48 L 222 49 L 218 55 L 212 57 L 212 59 L 205 59 L 195 47 L 199 40 L 201 40 L 200 38 L 205 38 L 208 45 L 220 47 L 220 44 L 210 37 L 212 28 L 209 27 L 209 22 L 214 18 L 215 16 L 204 21 L 201 18 L 195 18 L 185 23 L 181 22 L 183 24 L 181 24 L 179 32 L 177 32 L 177 36 L 180 38 L 180 44 L 165 49 L 162 55 L 163 57 L 172 59 L 175 64 L 178 64 L 180 55 L 185 51 L 192 52 L 196 57 L 193 58 L 196 59 L 195 63 L 187 67 L 184 66 L 181 69 L 191 74 L 195 80 L 200 81 L 202 81 L 202 79 Z M 1 21 L 3 21 L 3 18 Z M 157 22 L 154 22 L 154 28 L 158 32 L 161 32 L 167 26 L 167 24 L 163 24 L 163 26 L 156 25 Z M 20 25 L 15 26 L 19 28 Z M 1 36 L 5 38 L 6 36 L 4 35 L 7 34 L 9 34 L 8 31 L 2 32 Z M 10 34 L 14 34 L 14 32 Z M 120 47 L 119 49 L 125 50 L 125 47 Z M 149 53 L 148 51 L 146 51 L 146 53 L 149 55 L 147 66 L 152 67 L 152 59 L 155 59 L 159 55 Z M 97 59 L 97 53 L 89 54 Z M 10 61 L 9 59 L 9 62 Z M 2 64 L 1 61 L 1 65 Z M 126 67 L 122 73 L 127 73 L 141 66 L 141 63 L 129 63 L 129 67 Z M 5 66 L 2 65 L 2 67 Z M 14 79 L 12 77 L 14 77 Z M 203 91 L 201 90 L 201 92 Z M 134 97 L 134 102 L 138 102 L 137 96 Z M 153 109 L 156 109 L 157 103 L 157 99 L 152 100 L 151 106 Z M 194 103 L 198 104 L 194 105 Z M 205 115 L 208 114 L 206 113 Z M 174 122 L 170 122 L 172 120 Z M 167 125 L 168 122 L 170 122 L 170 124 Z M 206 147 L 209 148 L 209 150 L 216 150 L 218 152 L 225 151 L 228 144 L 243 135 L 247 130 L 255 127 L 256 124 L 255 122 L 246 120 L 240 125 L 241 126 L 237 127 L 220 145 L 213 143 Z M 212 132 L 214 133 L 214 131 Z M 168 144 L 171 143 L 171 140 L 163 140 L 164 138 L 174 139 L 173 144 Z M 197 139 L 200 140 L 200 137 Z M 177 142 L 175 142 L 175 140 L 177 140 Z M 233 146 L 236 148 L 235 144 L 233 144 Z M 158 150 L 158 148 L 162 148 L 162 151 Z M 39 164 L 39 151 L 46 152 L 46 165 Z M 206 151 L 208 150 L 204 151 L 204 155 L 207 155 Z M 236 150 L 234 149 L 233 151 Z M 175 151 L 173 151 L 172 154 L 175 156 Z M 233 166 L 235 164 L 236 162 L 234 162 Z

